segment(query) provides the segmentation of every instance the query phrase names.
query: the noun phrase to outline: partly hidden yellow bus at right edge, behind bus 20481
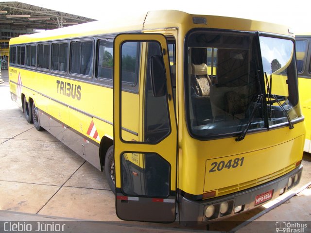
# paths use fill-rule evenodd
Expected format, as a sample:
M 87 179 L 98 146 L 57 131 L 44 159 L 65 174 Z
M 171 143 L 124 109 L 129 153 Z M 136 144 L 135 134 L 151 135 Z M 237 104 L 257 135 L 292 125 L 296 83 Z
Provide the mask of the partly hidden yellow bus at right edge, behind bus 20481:
M 299 100 L 307 130 L 304 151 L 311 153 L 311 33 L 298 33 L 295 39 Z

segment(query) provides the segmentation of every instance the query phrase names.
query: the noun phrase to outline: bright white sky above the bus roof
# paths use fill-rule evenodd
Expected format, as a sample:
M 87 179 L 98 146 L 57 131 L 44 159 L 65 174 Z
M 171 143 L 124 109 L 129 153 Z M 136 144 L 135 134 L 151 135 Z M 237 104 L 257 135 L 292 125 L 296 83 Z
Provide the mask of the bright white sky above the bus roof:
M 249 18 L 311 32 L 311 0 L 20 0 L 69 14 L 102 19 L 120 14 L 172 9 L 190 14 Z M 80 3 L 81 2 L 81 3 Z

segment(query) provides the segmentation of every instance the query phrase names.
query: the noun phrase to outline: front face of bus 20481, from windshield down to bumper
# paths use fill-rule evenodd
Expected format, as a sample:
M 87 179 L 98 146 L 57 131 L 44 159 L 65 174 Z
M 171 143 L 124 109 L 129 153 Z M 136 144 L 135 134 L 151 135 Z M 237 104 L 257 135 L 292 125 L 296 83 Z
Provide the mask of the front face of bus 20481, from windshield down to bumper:
M 184 67 L 181 219 L 231 216 L 298 183 L 304 124 L 294 39 L 190 30 Z

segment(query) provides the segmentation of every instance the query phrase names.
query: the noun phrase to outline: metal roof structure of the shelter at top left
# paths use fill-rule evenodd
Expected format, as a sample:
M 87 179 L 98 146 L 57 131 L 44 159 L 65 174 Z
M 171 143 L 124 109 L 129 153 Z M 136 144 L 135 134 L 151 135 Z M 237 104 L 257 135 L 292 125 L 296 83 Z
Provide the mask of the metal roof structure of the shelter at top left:
M 95 21 L 95 19 L 17 1 L 0 2 L 0 29 L 51 30 L 90 21 Z

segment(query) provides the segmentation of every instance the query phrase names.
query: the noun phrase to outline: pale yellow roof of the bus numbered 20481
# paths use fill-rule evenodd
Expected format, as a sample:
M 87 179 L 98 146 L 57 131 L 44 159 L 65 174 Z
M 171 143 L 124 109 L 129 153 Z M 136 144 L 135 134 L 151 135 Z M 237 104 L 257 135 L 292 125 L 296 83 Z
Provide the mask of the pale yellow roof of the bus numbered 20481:
M 205 18 L 207 25 L 193 23 L 193 17 Z M 81 36 L 94 36 L 107 33 L 141 32 L 143 30 L 173 27 L 179 28 L 181 26 L 184 30 L 186 30 L 186 32 L 191 28 L 205 27 L 292 35 L 288 32 L 288 28 L 286 26 L 274 23 L 233 17 L 191 15 L 176 10 L 159 10 L 136 14 L 131 17 L 110 17 L 105 20 L 87 22 L 42 33 L 21 35 L 19 37 L 12 38 L 10 40 L 10 44 L 67 39 Z

